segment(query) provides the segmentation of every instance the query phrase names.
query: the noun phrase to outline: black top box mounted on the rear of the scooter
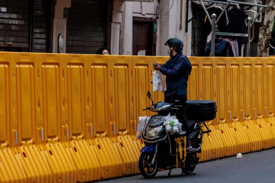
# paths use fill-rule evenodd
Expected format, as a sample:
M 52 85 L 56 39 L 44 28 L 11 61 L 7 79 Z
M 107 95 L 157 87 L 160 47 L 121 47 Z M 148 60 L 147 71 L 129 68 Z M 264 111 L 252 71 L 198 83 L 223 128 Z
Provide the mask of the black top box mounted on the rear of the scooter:
M 209 121 L 216 118 L 217 105 L 212 100 L 187 100 L 185 109 L 188 120 Z

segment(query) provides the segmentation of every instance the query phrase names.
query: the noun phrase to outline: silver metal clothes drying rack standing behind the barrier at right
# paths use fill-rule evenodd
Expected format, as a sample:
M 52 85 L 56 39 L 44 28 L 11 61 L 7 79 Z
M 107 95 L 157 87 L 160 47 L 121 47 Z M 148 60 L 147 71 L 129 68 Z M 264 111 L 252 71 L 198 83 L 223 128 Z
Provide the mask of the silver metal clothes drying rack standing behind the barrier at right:
M 241 36 L 241 37 L 248 37 L 248 41 L 247 41 L 247 51 L 246 51 L 246 55 L 249 57 L 250 55 L 250 42 L 252 40 L 250 40 L 250 30 L 252 28 L 252 26 L 254 25 L 256 19 L 260 16 L 261 12 L 263 11 L 264 8 L 266 8 L 266 5 L 262 5 L 262 4 L 254 4 L 254 3 L 248 3 L 248 2 L 239 2 L 239 1 L 233 1 L 233 0 L 227 0 L 227 2 L 222 2 L 222 1 L 214 1 L 214 0 L 199 0 L 201 2 L 201 6 L 203 8 L 203 10 L 205 11 L 205 14 L 210 22 L 210 24 L 212 25 L 212 38 L 211 38 L 211 55 L 210 56 L 215 56 L 215 35 L 222 35 L 222 36 Z M 218 3 L 218 4 L 226 4 L 226 6 L 224 8 L 222 8 L 221 6 L 209 6 L 208 8 L 205 8 L 205 5 L 203 2 L 211 2 L 211 3 Z M 245 10 L 244 12 L 253 12 L 256 14 L 256 17 L 252 20 L 251 17 L 247 18 L 247 34 L 242 34 L 242 33 L 230 33 L 230 32 L 215 32 L 215 26 L 218 24 L 218 22 L 220 21 L 220 19 L 222 18 L 222 15 L 224 14 L 224 12 L 226 11 L 226 9 L 228 8 L 228 6 L 230 5 L 235 5 L 235 6 L 239 6 L 240 4 L 243 5 L 248 5 L 248 6 L 259 6 L 260 11 L 256 12 L 254 10 Z M 219 17 L 217 18 L 216 14 L 212 14 L 211 17 L 208 13 L 208 9 L 211 7 L 216 7 L 216 8 L 220 8 L 222 10 L 222 13 L 219 15 Z

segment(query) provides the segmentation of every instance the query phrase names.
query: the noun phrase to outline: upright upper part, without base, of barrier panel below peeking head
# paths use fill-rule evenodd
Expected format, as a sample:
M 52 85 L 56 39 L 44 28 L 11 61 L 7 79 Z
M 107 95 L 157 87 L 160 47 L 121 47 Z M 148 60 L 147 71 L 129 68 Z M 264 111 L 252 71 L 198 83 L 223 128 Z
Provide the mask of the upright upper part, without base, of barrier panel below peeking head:
M 112 78 L 111 57 L 89 55 L 89 109 L 93 131 L 97 134 L 108 134 L 109 122 L 112 121 Z

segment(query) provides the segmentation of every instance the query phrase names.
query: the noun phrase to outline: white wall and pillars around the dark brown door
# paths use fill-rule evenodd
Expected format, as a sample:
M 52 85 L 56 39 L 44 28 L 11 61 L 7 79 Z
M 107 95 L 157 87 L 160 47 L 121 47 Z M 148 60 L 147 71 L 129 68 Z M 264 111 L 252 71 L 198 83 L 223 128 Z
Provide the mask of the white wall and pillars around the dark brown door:
M 160 14 L 166 14 L 173 0 L 160 0 Z M 167 39 L 177 37 L 184 42 L 183 53 L 191 53 L 191 34 L 185 35 L 185 17 L 186 17 L 186 0 L 183 0 L 183 12 L 182 12 L 182 30 L 180 30 L 180 4 L 181 0 L 174 0 L 174 4 L 166 15 L 160 16 L 157 19 L 158 30 L 157 30 L 157 41 L 156 41 L 156 55 L 167 55 L 167 46 L 164 43 Z M 191 3 L 189 3 L 191 4 Z M 120 41 L 115 41 L 115 38 L 111 40 L 113 47 L 117 46 L 120 48 L 119 53 L 121 55 L 132 55 L 132 42 L 133 42 L 133 17 L 144 17 L 152 18 L 156 13 L 158 6 L 158 0 L 152 2 L 119 2 L 114 1 L 113 11 L 113 23 L 119 23 L 121 25 L 121 36 Z M 189 11 L 190 12 L 190 11 Z M 191 15 L 192 16 L 192 15 Z M 191 23 L 188 29 L 191 28 Z M 117 26 L 117 24 L 116 24 Z M 188 32 L 191 33 L 191 30 Z M 190 51 L 186 51 L 186 37 L 188 37 L 188 47 Z M 189 44 L 190 42 L 190 44 Z M 116 45 L 114 45 L 115 43 Z M 112 51 L 112 50 L 111 50 Z M 190 54 L 188 54 L 190 55 Z

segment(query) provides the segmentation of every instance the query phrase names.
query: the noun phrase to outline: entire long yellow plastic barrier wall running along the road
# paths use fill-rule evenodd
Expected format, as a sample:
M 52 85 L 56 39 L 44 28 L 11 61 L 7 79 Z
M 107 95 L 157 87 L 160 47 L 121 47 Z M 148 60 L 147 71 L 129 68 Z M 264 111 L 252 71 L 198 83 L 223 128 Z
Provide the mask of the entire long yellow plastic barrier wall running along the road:
M 138 116 L 168 57 L 0 52 L 0 182 L 139 173 Z M 188 100 L 215 100 L 200 161 L 275 146 L 275 58 L 190 57 Z M 152 93 L 154 101 L 164 99 Z

